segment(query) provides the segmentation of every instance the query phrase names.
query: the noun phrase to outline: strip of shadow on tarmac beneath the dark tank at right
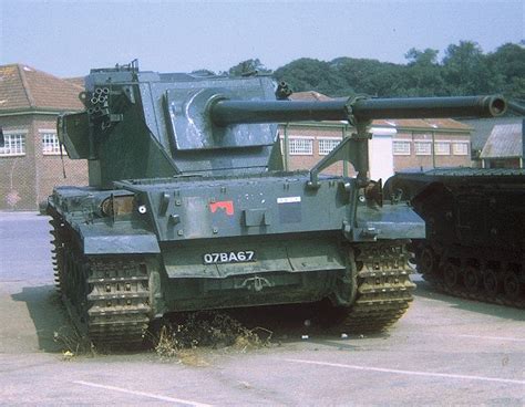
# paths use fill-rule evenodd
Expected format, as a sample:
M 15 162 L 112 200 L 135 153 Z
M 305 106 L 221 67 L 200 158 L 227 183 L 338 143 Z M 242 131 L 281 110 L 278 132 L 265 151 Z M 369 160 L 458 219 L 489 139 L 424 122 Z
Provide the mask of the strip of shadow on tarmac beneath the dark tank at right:
M 434 301 L 442 301 L 451 304 L 453 307 L 470 312 L 477 312 L 486 315 L 493 315 L 505 320 L 525 321 L 523 310 L 511 306 L 484 303 L 474 300 L 460 299 L 434 289 L 432 284 L 424 280 L 415 281 L 418 288 L 414 290 L 414 296 L 421 296 Z

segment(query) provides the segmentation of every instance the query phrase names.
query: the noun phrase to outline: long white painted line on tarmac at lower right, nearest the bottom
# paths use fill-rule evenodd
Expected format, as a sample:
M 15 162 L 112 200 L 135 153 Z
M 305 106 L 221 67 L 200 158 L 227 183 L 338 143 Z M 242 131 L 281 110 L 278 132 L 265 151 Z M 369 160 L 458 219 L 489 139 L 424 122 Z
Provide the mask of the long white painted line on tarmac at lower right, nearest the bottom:
M 392 373 L 392 374 L 409 375 L 409 376 L 459 378 L 459 379 L 465 379 L 465 380 L 495 382 L 495 383 L 506 383 L 506 384 L 513 384 L 513 385 L 525 385 L 525 380 L 515 380 L 515 379 L 512 379 L 512 378 L 467 376 L 467 375 L 455 375 L 455 374 L 449 374 L 449 373 L 433 373 L 433 372 L 398 371 L 398 369 L 390 369 L 390 368 L 383 368 L 383 367 L 343 365 L 341 363 L 329 363 L 329 362 L 317 362 L 317 361 L 305 361 L 305 359 L 287 359 L 287 358 L 285 358 L 282 361 L 291 362 L 291 363 L 303 363 L 303 364 L 309 364 L 309 365 L 318 365 L 318 366 L 342 367 L 342 368 L 353 369 L 353 371 L 380 372 L 380 373 Z

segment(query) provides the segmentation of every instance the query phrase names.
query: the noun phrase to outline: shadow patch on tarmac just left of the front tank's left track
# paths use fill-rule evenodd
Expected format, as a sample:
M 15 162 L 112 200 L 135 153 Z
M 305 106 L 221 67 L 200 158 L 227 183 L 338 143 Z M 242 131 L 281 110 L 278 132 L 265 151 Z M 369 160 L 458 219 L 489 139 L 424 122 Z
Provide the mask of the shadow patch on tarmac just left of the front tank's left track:
M 55 333 L 61 337 L 66 337 L 73 335 L 74 330 L 54 286 L 25 286 L 22 292 L 12 294 L 11 298 L 14 301 L 24 302 L 28 306 L 39 348 L 50 353 L 63 351 L 63 344 L 54 341 Z

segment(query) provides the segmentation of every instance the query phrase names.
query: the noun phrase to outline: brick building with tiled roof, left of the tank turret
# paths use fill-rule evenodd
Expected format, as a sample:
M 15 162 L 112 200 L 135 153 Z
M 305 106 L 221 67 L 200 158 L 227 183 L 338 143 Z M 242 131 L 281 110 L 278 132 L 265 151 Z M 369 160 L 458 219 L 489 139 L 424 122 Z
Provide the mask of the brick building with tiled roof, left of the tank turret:
M 27 65 L 0 66 L 0 210 L 35 210 L 53 186 L 87 184 L 86 163 L 65 152 L 62 161 L 56 138 L 56 116 L 83 109 L 81 91 Z

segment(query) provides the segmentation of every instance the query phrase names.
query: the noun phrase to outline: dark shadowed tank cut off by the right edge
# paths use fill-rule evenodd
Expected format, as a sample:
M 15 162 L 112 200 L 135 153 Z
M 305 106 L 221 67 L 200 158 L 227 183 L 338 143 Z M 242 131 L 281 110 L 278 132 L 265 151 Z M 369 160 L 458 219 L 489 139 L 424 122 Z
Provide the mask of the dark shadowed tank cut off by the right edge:
M 418 271 L 460 298 L 525 307 L 525 169 L 399 173 L 389 190 L 425 220 Z

